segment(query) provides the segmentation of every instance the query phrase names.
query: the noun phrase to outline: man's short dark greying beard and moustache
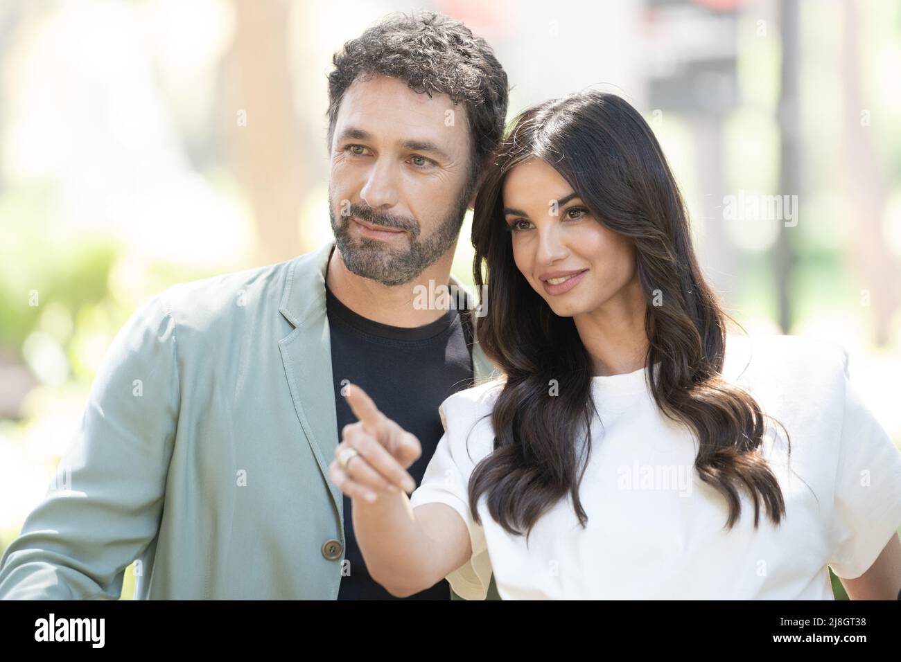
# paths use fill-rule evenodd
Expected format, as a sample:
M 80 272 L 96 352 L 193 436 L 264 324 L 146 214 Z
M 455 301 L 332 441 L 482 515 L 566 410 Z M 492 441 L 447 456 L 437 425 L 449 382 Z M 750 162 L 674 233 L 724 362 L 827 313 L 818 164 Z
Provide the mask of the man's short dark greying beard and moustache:
M 350 204 L 342 209 L 341 222 L 335 220 L 335 205 L 332 201 L 332 186 L 329 186 L 329 218 L 332 222 L 332 233 L 335 245 L 341 251 L 341 259 L 351 273 L 370 278 L 387 286 L 398 286 L 409 283 L 418 277 L 426 268 L 441 258 L 448 249 L 457 242 L 460 226 L 469 203 L 472 184 L 466 186 L 456 207 L 451 210 L 432 235 L 419 240 L 420 225 L 414 218 L 378 213 L 369 204 Z M 409 249 L 396 250 L 388 247 L 386 241 L 371 237 L 354 238 L 350 233 L 350 217 L 361 221 L 381 225 L 386 228 L 399 228 L 406 231 L 410 242 Z

